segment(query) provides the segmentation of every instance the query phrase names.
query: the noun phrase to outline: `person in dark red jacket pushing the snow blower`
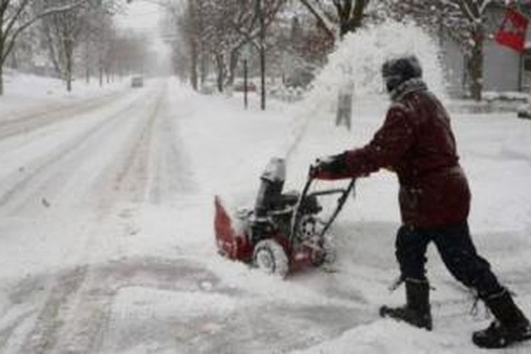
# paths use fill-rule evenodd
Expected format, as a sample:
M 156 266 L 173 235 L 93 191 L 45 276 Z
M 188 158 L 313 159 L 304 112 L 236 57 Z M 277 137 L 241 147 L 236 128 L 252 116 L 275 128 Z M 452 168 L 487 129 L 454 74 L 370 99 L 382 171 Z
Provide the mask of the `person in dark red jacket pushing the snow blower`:
M 476 346 L 503 348 L 531 338 L 530 322 L 476 252 L 467 224 L 471 194 L 450 117 L 423 82 L 421 64 L 414 56 L 389 59 L 382 76 L 392 103 L 372 140 L 312 166 L 314 177 L 324 180 L 367 176 L 382 168 L 398 175 L 402 224 L 395 255 L 406 304 L 383 306 L 380 314 L 432 329 L 425 263 L 433 241 L 450 273 L 475 290 L 496 317 L 487 329 L 473 333 Z

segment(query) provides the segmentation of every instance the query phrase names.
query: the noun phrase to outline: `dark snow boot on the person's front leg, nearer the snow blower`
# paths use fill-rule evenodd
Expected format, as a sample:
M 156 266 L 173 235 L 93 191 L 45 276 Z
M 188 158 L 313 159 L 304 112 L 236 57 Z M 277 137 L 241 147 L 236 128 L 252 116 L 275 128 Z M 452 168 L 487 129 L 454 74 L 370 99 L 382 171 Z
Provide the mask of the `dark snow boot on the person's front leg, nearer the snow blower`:
M 427 280 L 406 279 L 406 305 L 402 307 L 382 306 L 382 317 L 405 321 L 413 326 L 431 331 L 430 285 Z

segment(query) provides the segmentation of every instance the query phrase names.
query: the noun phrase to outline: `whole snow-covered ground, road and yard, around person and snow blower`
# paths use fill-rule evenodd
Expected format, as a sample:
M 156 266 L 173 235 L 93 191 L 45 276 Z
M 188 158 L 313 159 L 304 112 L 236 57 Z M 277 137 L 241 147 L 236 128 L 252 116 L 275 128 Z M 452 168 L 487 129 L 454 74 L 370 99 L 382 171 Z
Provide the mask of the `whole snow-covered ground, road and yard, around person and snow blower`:
M 467 316 L 467 291 L 433 250 L 435 331 L 377 319 L 379 304 L 403 300 L 386 290 L 398 223 L 389 173 L 360 182 L 338 219 L 334 273 L 282 281 L 217 256 L 215 193 L 252 202 L 261 169 L 288 148 L 288 188 L 299 188 L 312 158 L 364 141 L 382 113 L 360 113 L 349 135 L 324 110 L 297 109 L 245 112 L 236 99 L 150 80 L 4 114 L 0 353 L 473 353 L 469 333 L 486 321 Z M 302 136 L 293 118 L 307 115 Z M 476 241 L 529 314 L 529 125 L 458 117 Z

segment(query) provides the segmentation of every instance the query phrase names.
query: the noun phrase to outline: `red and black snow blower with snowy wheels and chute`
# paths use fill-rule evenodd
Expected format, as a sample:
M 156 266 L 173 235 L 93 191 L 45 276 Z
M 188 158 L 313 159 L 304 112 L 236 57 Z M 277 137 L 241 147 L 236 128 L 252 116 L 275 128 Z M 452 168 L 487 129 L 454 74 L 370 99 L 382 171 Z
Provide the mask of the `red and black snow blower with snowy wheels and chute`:
M 250 263 L 265 273 L 280 275 L 304 266 L 319 266 L 333 258 L 326 232 L 341 211 L 355 181 L 341 189 L 310 193 L 312 169 L 301 193 L 282 193 L 285 161 L 271 159 L 261 176 L 253 210 L 230 215 L 215 198 L 215 236 L 222 256 Z M 326 219 L 319 197 L 339 195 L 336 209 Z

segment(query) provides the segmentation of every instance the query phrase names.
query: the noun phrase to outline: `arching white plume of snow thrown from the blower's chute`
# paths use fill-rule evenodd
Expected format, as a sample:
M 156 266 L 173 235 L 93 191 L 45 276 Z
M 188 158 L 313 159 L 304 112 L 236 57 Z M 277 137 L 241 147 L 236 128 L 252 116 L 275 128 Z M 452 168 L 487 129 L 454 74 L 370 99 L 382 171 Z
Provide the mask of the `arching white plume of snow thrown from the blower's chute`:
M 312 91 L 293 111 L 292 139 L 282 148 L 285 156 L 289 158 L 297 149 L 312 118 L 325 118 L 332 124 L 340 90 L 353 87 L 354 105 L 385 104 L 382 64 L 404 55 L 416 55 L 428 88 L 444 100 L 445 79 L 436 40 L 413 23 L 388 20 L 369 25 L 343 38 L 312 83 Z

